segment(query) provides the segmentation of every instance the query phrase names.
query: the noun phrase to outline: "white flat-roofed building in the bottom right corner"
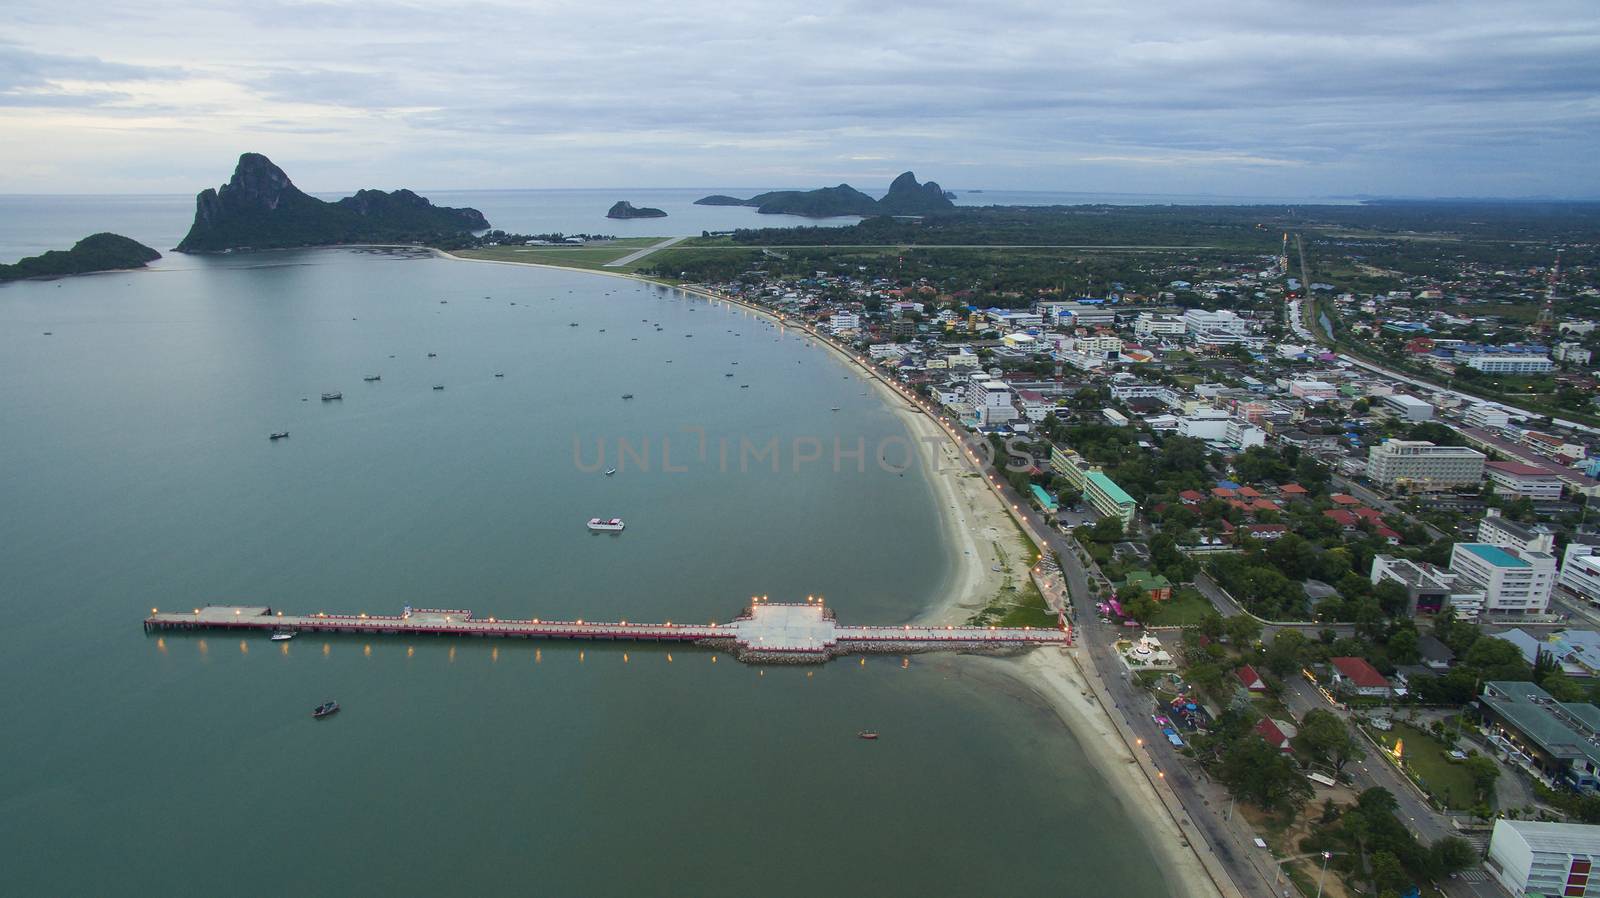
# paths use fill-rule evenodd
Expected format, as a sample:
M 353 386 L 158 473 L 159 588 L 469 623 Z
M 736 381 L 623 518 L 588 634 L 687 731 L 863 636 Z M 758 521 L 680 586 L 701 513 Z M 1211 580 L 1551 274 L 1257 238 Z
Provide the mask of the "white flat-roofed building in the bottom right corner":
M 1517 898 L 1582 898 L 1600 895 L 1600 880 L 1589 885 L 1595 864 L 1600 864 L 1600 826 L 1496 820 L 1485 866 Z

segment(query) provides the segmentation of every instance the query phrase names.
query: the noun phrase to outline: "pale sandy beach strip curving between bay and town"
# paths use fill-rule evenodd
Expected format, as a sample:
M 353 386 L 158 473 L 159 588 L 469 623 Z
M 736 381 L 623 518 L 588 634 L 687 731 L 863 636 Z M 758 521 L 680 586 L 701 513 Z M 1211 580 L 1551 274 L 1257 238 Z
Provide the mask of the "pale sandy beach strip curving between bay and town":
M 779 327 L 795 327 L 770 309 L 718 296 L 707 290 L 662 283 L 632 272 L 509 259 L 469 259 L 442 250 L 434 250 L 434 253 L 462 263 L 547 267 L 672 287 L 712 303 L 728 303 L 752 311 Z M 906 399 L 878 371 L 862 365 L 858 359 L 830 341 L 822 339 L 810 328 L 797 330 L 810 335 L 816 346 L 832 352 L 848 368 L 859 370 L 866 379 L 874 383 L 880 399 L 888 403 L 890 411 L 901 419 L 912 434 L 914 442 L 920 447 L 923 471 L 933 490 L 934 504 L 938 506 L 939 530 L 950 551 L 954 568 L 946 576 L 941 592 L 931 597 L 914 619 L 926 624 L 963 623 L 973 611 L 982 608 L 998 595 L 1006 576 L 1006 570 L 992 570 L 998 563 L 994 544 L 986 547 L 979 541 L 979 536 L 989 536 L 994 543 L 1005 544 L 1011 541 L 1011 544 L 1026 544 L 1029 549 L 1035 549 L 1032 538 L 1026 536 L 1026 530 L 1016 523 L 1005 501 L 990 490 L 987 480 L 976 467 L 962 458 L 962 447 L 944 427 L 923 411 L 907 405 Z M 926 437 L 938 437 L 938 440 L 928 440 Z M 955 552 L 960 552 L 960 555 Z M 1019 568 L 1019 571 L 1014 571 L 1014 576 L 1019 576 L 1018 583 L 1026 583 L 1029 560 L 1008 559 L 1008 562 L 1010 565 L 1002 567 Z M 1202 850 L 1210 850 L 1205 837 L 1195 834 L 1190 839 L 1189 834 L 1179 829 L 1162 796 L 1157 794 L 1157 786 L 1144 775 L 1139 760 L 1133 756 L 1128 743 L 1118 732 L 1117 722 L 1110 717 L 1112 712 L 1096 698 L 1088 682 L 1091 674 L 1083 669 L 1085 659 L 1082 659 L 1078 651 L 1075 647 L 1059 651 L 1035 648 L 1019 658 L 978 658 L 974 663 L 984 664 L 986 671 L 1011 680 L 1018 688 L 1026 690 L 1051 709 L 1088 762 L 1110 786 L 1112 794 L 1120 799 L 1120 805 L 1130 818 L 1144 832 L 1146 845 L 1160 863 L 1162 876 L 1171 887 L 1174 898 L 1219 896 L 1222 892 L 1200 858 Z M 1093 664 L 1093 661 L 1086 663 Z

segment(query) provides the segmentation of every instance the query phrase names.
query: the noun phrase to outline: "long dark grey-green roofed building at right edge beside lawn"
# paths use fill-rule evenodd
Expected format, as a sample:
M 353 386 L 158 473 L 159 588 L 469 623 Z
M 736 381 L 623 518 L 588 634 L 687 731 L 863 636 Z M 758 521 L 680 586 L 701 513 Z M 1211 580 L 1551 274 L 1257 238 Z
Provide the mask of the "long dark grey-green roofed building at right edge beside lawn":
M 1552 786 L 1600 789 L 1600 708 L 1555 701 L 1536 684 L 1490 680 L 1478 711 L 1490 743 L 1523 768 Z

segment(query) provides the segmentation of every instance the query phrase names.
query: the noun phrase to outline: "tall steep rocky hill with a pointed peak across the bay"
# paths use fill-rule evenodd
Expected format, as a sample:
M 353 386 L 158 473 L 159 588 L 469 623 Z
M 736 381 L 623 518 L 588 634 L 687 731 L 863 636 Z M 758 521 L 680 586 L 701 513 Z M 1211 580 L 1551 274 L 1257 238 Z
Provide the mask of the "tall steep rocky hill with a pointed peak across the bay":
M 270 158 L 246 152 L 227 184 L 195 197 L 195 221 L 178 251 L 419 243 L 488 226 L 478 210 L 435 206 L 405 189 L 323 202 L 296 187 Z

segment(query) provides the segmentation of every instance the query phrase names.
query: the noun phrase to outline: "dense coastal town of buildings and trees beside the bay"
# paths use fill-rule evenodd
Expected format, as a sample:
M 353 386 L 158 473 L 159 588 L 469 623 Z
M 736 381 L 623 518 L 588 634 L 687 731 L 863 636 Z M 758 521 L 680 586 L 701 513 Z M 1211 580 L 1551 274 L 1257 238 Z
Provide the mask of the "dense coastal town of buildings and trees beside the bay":
M 1104 661 L 1242 893 L 1581 893 L 1600 856 L 1592 269 L 1552 250 L 1445 279 L 1304 251 L 1150 253 L 1160 283 L 1003 301 L 926 259 L 907 277 L 763 250 L 675 274 L 994 450 L 1059 547 L 1040 568 L 1066 587 L 1034 600 Z

